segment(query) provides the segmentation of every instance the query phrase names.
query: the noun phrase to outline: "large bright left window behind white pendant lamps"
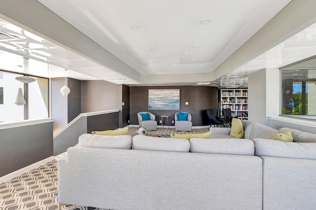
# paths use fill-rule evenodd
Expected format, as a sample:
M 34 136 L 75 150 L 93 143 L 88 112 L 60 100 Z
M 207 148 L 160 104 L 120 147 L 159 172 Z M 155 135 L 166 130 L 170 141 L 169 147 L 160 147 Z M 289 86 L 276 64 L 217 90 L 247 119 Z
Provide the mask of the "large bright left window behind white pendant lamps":
M 49 117 L 49 79 L 44 78 L 48 76 L 48 66 L 0 50 L 0 122 Z M 15 79 L 26 73 L 36 81 L 24 84 Z M 19 88 L 22 89 L 26 105 L 15 105 Z

